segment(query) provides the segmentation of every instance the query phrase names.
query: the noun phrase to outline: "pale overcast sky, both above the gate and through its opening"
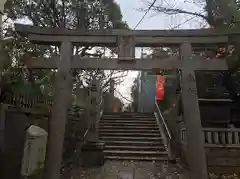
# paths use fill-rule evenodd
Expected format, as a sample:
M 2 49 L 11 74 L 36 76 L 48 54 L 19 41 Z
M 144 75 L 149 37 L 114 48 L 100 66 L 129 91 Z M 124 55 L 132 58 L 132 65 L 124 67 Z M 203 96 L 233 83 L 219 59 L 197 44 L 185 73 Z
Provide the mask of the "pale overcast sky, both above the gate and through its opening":
M 144 15 L 144 12 L 141 12 L 139 9 L 146 7 L 147 0 L 115 0 L 121 8 L 123 19 L 128 23 L 131 29 L 133 29 L 136 24 L 139 22 L 141 17 Z M 166 4 L 167 3 L 167 4 Z M 202 7 L 199 5 L 194 5 L 188 3 L 187 0 L 157 0 L 156 4 L 163 4 L 167 7 L 174 7 L 184 9 L 190 12 L 201 12 Z M 138 26 L 137 29 L 149 29 L 149 30 L 160 30 L 160 29 L 172 29 L 177 27 L 178 29 L 194 29 L 199 28 L 203 22 L 200 19 L 193 18 L 188 15 L 181 16 L 168 16 L 164 14 L 156 14 L 150 12 L 142 23 Z M 180 25 L 181 24 L 181 25 Z M 137 53 L 139 56 L 139 53 Z M 119 86 L 118 90 L 126 98 L 130 99 L 130 89 L 133 83 L 134 78 L 136 78 L 136 72 L 129 72 L 128 77 L 126 77 L 124 83 Z M 117 94 L 116 94 L 117 95 Z M 124 100 L 126 102 L 126 100 Z

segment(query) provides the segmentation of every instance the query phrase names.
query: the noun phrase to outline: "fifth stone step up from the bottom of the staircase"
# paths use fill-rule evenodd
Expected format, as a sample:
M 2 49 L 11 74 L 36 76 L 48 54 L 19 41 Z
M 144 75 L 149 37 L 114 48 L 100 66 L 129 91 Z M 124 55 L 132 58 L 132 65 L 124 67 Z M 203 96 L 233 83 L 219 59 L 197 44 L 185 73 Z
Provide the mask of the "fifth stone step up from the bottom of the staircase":
M 107 137 L 100 137 L 100 140 L 103 141 L 126 141 L 126 140 L 130 140 L 130 141 L 161 141 L 162 137 L 123 137 L 123 136 L 107 136 Z

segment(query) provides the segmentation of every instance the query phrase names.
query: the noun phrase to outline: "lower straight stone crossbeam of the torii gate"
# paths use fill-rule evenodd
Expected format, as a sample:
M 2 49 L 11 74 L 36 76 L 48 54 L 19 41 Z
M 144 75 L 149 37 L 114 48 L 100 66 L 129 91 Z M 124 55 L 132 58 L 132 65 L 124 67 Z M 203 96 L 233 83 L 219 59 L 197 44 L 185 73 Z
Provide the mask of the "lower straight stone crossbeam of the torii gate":
M 51 58 L 25 59 L 28 68 L 56 69 L 60 56 Z M 225 59 L 206 60 L 204 57 L 195 56 L 192 59 L 194 70 L 227 70 Z M 170 56 L 165 59 L 152 58 L 82 58 L 74 55 L 71 60 L 71 68 L 82 70 L 153 70 L 153 69 L 183 69 L 183 61 L 178 56 Z

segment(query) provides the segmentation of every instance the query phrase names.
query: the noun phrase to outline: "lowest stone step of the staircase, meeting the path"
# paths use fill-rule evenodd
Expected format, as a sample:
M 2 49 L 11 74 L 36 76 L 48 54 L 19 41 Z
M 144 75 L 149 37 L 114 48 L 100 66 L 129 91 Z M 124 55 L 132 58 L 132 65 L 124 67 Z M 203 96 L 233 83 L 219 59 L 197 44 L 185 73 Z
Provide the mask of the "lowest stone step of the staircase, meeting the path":
M 139 157 L 139 156 L 105 156 L 106 160 L 140 160 L 140 161 L 167 161 L 168 157 Z

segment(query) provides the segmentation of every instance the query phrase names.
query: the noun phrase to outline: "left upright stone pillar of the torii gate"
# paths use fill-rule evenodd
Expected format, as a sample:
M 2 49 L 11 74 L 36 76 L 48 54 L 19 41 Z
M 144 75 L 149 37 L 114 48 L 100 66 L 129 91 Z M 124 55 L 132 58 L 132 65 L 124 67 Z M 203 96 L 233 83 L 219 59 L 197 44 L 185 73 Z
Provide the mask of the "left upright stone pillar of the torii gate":
M 69 84 L 71 82 L 72 53 L 72 44 L 70 42 L 62 42 L 54 103 L 49 121 L 44 179 L 60 178 L 65 125 L 67 123 L 67 111 L 70 101 L 68 98 L 72 87 Z

